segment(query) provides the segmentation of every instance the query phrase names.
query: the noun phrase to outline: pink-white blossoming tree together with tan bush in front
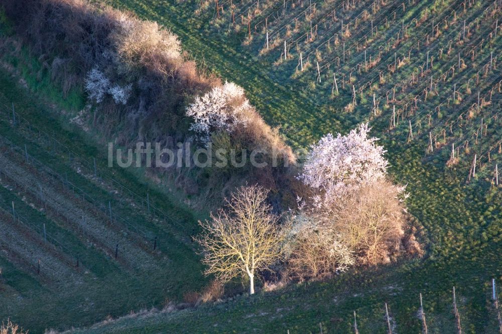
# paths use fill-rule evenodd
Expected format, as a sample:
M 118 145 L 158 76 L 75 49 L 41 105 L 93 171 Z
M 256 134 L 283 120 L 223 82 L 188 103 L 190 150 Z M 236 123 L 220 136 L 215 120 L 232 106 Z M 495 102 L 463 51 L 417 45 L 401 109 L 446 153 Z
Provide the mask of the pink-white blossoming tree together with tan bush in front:
M 364 123 L 344 136 L 328 134 L 307 155 L 299 179 L 315 191 L 309 215 L 317 225 L 298 259 L 309 260 L 312 275 L 336 263 L 349 266 L 350 254 L 362 263 L 387 263 L 400 248 L 405 187 L 387 180 L 386 151 L 369 130 Z

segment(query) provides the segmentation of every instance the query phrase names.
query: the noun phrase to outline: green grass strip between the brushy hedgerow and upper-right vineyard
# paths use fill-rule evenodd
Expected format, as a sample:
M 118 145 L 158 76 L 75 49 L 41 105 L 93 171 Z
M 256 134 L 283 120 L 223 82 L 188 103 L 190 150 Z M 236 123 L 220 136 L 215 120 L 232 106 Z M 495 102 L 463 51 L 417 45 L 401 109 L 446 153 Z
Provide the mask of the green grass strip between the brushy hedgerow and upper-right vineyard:
M 210 23 L 193 15 L 193 2 L 175 3 L 112 0 L 111 5 L 133 10 L 141 18 L 154 20 L 176 33 L 182 45 L 203 67 L 246 89 L 250 101 L 269 124 L 281 126 L 291 144 L 306 145 L 321 133 L 341 130 L 332 107 L 318 105 L 315 97 L 301 94 L 287 79 L 277 80 L 255 56 L 240 47 L 239 38 L 224 39 L 206 33 Z M 298 120 L 292 121 L 292 120 Z M 322 122 L 316 121 L 322 119 Z M 343 119 L 351 127 L 355 120 Z

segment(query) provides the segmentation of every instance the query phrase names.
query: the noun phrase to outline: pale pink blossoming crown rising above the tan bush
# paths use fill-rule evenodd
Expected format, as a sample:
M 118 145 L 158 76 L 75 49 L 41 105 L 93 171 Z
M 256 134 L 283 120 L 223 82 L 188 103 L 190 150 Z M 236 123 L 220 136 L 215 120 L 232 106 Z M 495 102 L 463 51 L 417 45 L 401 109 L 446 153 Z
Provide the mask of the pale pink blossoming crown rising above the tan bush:
M 368 138 L 367 123 L 336 137 L 327 134 L 311 146 L 299 179 L 318 190 L 317 205 L 330 205 L 350 189 L 371 184 L 387 173 L 388 161 L 379 138 Z

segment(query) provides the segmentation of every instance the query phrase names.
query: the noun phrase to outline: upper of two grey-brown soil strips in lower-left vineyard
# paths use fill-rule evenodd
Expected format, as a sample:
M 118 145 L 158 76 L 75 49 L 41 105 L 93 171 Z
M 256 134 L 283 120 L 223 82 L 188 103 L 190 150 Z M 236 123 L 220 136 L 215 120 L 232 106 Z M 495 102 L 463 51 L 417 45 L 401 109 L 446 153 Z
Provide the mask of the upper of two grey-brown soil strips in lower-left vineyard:
M 154 256 L 141 247 L 138 240 L 130 240 L 128 231 L 120 229 L 121 227 L 115 224 L 109 226 L 109 223 L 104 223 L 89 213 L 89 210 L 79 208 L 69 200 L 72 195 L 58 191 L 48 181 L 49 178 L 37 175 L 34 169 L 27 171 L 22 165 L 13 162 L 5 155 L 0 156 L 0 166 L 4 175 L 35 196 L 38 195 L 38 189 L 41 186 L 42 201 L 47 208 L 56 211 L 68 223 L 71 222 L 74 229 L 81 230 L 92 240 L 97 240 L 104 246 L 108 256 L 114 257 L 115 246 L 118 244 L 120 260 L 131 269 L 150 270 L 157 267 Z

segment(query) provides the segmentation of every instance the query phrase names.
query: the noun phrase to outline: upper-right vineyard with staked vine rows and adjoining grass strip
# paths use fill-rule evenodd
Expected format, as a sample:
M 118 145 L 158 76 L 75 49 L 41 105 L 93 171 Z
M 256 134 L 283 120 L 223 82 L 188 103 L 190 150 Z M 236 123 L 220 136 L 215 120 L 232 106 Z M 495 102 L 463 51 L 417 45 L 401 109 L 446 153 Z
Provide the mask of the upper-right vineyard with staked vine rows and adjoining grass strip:
M 167 7 L 132 6 L 153 19 Z M 486 177 L 495 181 L 502 140 L 498 2 L 227 1 L 192 10 L 195 26 L 237 58 L 201 51 L 206 66 L 225 68 L 225 77 L 253 92 L 252 101 L 294 145 L 370 119 L 389 139 L 424 145 L 432 159 L 463 162 L 466 178 L 476 155 L 477 172 L 489 164 Z M 243 59 L 254 75 L 234 71 Z

